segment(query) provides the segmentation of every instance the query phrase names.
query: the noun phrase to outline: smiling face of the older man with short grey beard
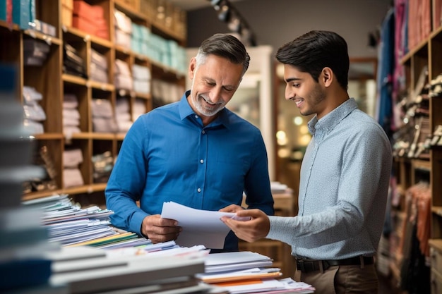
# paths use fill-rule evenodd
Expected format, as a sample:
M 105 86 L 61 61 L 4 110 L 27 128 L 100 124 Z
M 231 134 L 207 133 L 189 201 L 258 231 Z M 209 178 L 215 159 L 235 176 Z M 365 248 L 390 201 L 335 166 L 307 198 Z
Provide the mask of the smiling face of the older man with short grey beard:
M 228 59 L 209 54 L 197 66 L 191 59 L 189 78 L 192 80 L 189 104 L 201 116 L 204 125 L 213 121 L 238 89 L 243 73 L 243 65 Z

